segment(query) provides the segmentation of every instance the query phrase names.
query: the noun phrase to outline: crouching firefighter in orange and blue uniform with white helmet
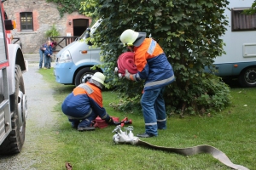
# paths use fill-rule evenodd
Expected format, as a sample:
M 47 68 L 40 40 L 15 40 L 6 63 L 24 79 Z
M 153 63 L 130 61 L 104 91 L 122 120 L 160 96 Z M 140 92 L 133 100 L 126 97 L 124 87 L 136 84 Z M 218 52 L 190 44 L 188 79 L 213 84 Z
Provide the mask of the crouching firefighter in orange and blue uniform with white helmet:
M 61 109 L 72 123 L 73 128 L 79 131 L 95 130 L 92 121 L 96 116 L 100 116 L 109 124 L 116 125 L 113 118 L 108 115 L 102 105 L 102 88 L 105 76 L 101 72 L 96 72 L 88 82 L 81 83 L 73 89 L 71 94 L 63 101 Z

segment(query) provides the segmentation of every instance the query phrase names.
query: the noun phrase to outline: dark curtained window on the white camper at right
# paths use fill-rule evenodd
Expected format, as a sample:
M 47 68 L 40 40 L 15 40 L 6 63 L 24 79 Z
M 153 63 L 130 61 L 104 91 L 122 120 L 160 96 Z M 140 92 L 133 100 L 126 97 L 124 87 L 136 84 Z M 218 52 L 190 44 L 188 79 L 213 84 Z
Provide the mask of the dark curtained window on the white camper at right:
M 253 31 L 256 30 L 256 14 L 242 14 L 246 8 L 231 9 L 232 31 Z

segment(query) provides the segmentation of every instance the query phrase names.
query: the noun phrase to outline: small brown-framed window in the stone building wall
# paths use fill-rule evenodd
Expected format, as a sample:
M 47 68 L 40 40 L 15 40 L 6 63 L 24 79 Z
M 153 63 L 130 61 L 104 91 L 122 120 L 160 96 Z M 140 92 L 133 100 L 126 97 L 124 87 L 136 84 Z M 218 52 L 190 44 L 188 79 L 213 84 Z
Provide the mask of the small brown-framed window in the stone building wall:
M 20 13 L 21 31 L 33 31 L 32 12 Z

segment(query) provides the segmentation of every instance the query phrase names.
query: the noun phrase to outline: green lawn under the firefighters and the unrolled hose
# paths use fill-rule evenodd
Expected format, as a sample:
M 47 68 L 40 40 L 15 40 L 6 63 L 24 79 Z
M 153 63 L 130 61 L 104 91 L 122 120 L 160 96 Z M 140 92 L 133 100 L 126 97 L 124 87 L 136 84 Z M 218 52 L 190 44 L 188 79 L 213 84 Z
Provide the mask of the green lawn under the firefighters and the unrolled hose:
M 38 72 L 55 89 L 55 100 L 58 101 L 54 108 L 58 113 L 58 122 L 53 129 L 56 131 L 54 141 L 58 147 L 45 153 L 48 159 L 45 158 L 42 164 L 47 163 L 47 169 L 66 169 L 66 161 L 71 163 L 73 170 L 230 169 L 207 154 L 181 156 L 131 144 L 113 144 L 113 126 L 96 128 L 92 132 L 74 130 L 61 112 L 61 103 L 74 86 L 56 83 L 52 69 Z M 209 144 L 223 151 L 233 163 L 256 169 L 256 88 L 232 88 L 230 93 L 232 104 L 224 111 L 212 113 L 211 116 L 185 116 L 183 119 L 179 116 L 168 117 L 167 129 L 160 131 L 157 138 L 142 140 L 177 148 Z M 120 119 L 127 116 L 132 119 L 134 134 L 144 132 L 141 112 L 115 111 L 108 104 L 118 102 L 117 95 L 111 91 L 104 91 L 102 95 L 103 105 L 109 115 L 119 116 Z

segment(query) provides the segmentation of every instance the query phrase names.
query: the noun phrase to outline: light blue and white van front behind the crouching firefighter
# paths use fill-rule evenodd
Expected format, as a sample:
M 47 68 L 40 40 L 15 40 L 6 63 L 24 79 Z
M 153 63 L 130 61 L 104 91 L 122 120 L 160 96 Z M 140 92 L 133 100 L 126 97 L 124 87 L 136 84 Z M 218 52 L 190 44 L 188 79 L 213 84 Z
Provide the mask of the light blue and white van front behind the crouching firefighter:
M 91 70 L 90 67 L 102 64 L 100 60 L 100 48 L 94 48 L 85 38 L 93 35 L 102 20 L 87 28 L 76 41 L 70 43 L 56 54 L 54 75 L 55 81 L 61 84 L 73 84 L 78 86 L 86 82 L 96 72 L 103 72 L 102 68 Z

